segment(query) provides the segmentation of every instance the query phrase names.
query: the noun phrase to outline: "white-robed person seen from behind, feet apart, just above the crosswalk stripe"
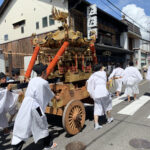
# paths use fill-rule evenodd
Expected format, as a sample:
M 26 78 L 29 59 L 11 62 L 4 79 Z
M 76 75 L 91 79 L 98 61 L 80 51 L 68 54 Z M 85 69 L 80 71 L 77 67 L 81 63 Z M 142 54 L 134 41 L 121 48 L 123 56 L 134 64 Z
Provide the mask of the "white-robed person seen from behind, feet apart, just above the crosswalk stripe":
M 124 71 L 123 83 L 126 85 L 125 94 L 128 96 L 128 102 L 130 102 L 130 97 L 134 96 L 136 100 L 136 95 L 139 94 L 138 84 L 143 80 L 139 70 L 133 66 L 133 62 L 129 62 L 129 67 Z

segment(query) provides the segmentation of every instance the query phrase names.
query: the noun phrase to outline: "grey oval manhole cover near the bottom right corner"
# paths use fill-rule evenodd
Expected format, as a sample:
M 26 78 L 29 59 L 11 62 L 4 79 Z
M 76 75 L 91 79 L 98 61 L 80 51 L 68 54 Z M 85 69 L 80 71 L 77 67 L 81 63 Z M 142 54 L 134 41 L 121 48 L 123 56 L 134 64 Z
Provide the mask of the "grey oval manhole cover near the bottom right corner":
M 131 139 L 129 144 L 134 148 L 150 149 L 150 141 L 145 139 Z

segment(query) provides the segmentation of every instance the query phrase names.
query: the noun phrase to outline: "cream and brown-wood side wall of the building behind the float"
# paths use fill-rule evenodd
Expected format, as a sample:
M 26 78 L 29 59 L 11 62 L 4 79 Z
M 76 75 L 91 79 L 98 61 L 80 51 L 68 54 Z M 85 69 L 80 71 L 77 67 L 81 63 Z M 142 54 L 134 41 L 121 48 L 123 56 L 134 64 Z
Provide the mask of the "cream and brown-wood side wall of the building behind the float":
M 4 0 L 0 8 L 0 48 L 6 60 L 6 72 L 20 68 L 24 72 L 24 56 L 33 53 L 32 37 L 40 38 L 57 30 L 61 23 L 52 18 L 52 8 L 68 12 L 64 0 Z

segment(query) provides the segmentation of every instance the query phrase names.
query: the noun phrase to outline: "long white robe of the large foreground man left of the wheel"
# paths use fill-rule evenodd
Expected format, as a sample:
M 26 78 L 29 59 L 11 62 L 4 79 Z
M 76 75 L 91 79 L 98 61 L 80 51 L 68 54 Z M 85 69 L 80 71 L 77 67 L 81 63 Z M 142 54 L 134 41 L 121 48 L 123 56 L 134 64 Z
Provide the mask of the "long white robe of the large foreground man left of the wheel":
M 47 118 L 44 112 L 53 97 L 54 93 L 46 80 L 41 77 L 30 80 L 15 120 L 12 145 L 25 141 L 31 135 L 33 135 L 35 143 L 49 135 Z M 36 110 L 38 107 L 42 115 Z

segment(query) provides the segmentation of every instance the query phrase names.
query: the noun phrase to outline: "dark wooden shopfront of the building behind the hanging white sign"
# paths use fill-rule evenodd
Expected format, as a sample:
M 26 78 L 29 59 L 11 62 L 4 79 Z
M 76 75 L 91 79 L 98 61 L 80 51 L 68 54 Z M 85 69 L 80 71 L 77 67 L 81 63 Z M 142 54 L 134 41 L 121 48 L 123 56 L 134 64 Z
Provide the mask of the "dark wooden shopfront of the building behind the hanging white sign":
M 90 5 L 87 1 L 80 1 L 75 6 L 73 0 L 69 1 L 70 25 L 74 30 L 83 32 L 84 36 L 87 36 L 87 7 Z M 95 47 L 99 63 L 107 65 L 119 62 L 125 65 L 127 55 L 131 54 L 126 40 L 128 26 L 99 8 L 97 20 L 98 38 Z

